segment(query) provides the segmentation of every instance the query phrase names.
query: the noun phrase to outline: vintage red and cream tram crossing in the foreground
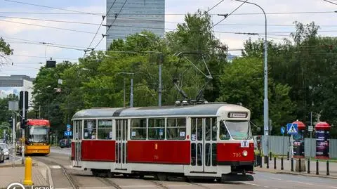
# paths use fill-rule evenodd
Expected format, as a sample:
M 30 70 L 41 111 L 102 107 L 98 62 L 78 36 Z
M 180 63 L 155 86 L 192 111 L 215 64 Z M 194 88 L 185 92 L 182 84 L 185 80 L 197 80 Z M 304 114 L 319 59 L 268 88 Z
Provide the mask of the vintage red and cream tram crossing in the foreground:
M 72 117 L 72 166 L 95 176 L 253 181 L 249 118 L 225 103 L 81 110 Z

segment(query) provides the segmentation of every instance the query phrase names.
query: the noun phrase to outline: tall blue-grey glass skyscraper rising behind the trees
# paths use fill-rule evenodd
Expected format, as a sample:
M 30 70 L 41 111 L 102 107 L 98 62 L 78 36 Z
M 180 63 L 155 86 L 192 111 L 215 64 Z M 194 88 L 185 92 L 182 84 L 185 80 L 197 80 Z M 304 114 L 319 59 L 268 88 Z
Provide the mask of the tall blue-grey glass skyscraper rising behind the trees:
M 107 25 L 112 25 L 107 32 L 107 49 L 114 39 L 125 39 L 143 30 L 164 36 L 165 0 L 107 0 L 107 11 L 111 6 L 106 18 Z

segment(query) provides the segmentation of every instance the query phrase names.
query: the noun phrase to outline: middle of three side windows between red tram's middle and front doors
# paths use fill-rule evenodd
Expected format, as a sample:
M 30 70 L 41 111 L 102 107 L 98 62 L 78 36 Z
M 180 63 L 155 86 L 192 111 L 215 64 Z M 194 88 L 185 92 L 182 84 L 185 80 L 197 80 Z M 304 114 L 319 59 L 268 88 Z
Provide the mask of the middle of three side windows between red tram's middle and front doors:
M 156 140 L 165 139 L 165 119 L 149 119 L 148 138 Z

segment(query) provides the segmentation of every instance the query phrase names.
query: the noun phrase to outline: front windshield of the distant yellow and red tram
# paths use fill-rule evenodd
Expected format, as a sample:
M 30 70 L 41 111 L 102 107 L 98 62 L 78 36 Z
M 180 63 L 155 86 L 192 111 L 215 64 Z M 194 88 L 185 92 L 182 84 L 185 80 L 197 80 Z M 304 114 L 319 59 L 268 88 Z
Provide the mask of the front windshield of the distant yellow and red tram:
M 48 142 L 48 126 L 34 125 L 28 128 L 27 136 L 29 143 L 46 143 Z

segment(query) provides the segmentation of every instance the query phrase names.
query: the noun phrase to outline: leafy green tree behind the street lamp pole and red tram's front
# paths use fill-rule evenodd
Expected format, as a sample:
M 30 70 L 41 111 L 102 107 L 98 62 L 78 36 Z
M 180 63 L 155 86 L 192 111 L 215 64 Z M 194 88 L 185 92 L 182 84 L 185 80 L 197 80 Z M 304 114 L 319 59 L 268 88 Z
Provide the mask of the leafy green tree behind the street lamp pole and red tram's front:
M 269 79 L 270 119 L 274 130 L 293 119 L 293 103 L 289 98 L 290 87 Z M 237 58 L 225 66 L 220 77 L 219 101 L 242 103 L 251 110 L 254 124 L 263 125 L 263 62 L 260 58 Z M 253 128 L 255 131 L 255 128 Z

